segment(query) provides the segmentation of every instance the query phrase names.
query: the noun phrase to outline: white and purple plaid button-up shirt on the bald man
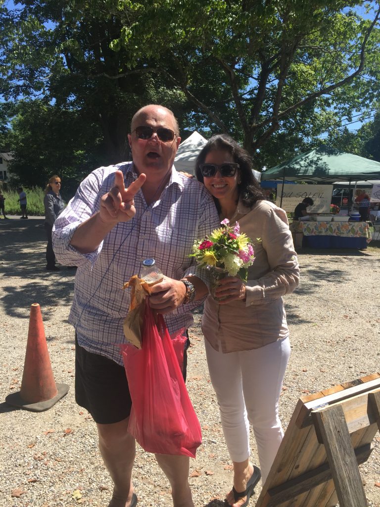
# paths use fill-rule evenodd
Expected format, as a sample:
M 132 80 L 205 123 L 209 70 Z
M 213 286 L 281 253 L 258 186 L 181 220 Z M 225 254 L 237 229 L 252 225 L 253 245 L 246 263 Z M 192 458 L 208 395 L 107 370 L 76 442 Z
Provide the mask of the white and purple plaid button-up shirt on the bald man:
M 137 178 L 131 162 L 100 167 L 89 174 L 56 220 L 53 245 L 61 264 L 78 266 L 69 322 L 79 344 L 122 365 L 117 344 L 125 342 L 123 320 L 130 303 L 130 291 L 122 288 L 124 281 L 139 274 L 141 262 L 151 257 L 170 278 L 194 274 L 207 283 L 204 270 L 188 255 L 195 239 L 209 234 L 219 219 L 204 186 L 173 167 L 155 202 L 147 205 L 139 190 L 134 197 L 135 217 L 117 224 L 96 251 L 80 253 L 70 245 L 74 231 L 99 210 L 100 198 L 113 187 L 116 170 L 124 173 L 126 188 Z M 180 306 L 165 315 L 169 333 L 189 327 L 193 323 L 191 310 L 199 303 Z

